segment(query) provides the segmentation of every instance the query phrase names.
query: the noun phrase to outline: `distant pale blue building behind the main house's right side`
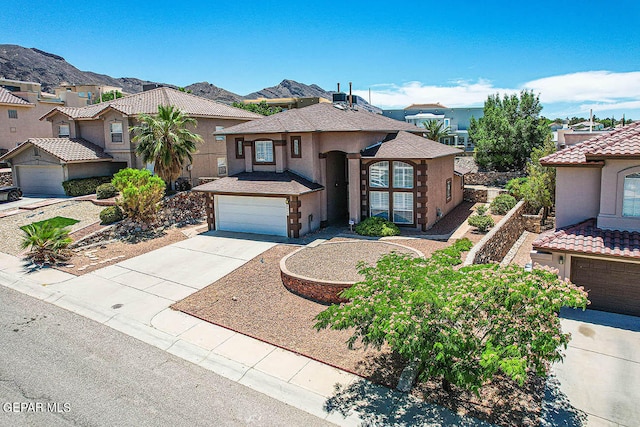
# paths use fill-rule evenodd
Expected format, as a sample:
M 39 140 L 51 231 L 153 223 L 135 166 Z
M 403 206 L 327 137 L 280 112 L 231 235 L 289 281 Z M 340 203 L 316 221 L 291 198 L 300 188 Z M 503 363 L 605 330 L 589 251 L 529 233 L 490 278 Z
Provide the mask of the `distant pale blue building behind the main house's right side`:
M 469 139 L 471 118 L 476 120 L 484 116 L 484 108 L 447 108 L 435 104 L 411 104 L 402 110 L 383 110 L 382 115 L 392 119 L 405 121 L 424 128 L 424 122 L 437 121 L 443 128 L 449 127 L 449 135 L 440 141 L 446 145 L 464 147 L 465 151 L 473 151 L 473 141 Z

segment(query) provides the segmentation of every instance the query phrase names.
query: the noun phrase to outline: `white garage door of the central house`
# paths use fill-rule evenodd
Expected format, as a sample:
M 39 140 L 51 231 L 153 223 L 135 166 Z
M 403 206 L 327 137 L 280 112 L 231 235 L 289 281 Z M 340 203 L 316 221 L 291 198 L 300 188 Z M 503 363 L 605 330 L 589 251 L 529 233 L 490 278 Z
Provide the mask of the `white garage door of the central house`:
M 216 229 L 287 236 L 283 197 L 215 196 Z

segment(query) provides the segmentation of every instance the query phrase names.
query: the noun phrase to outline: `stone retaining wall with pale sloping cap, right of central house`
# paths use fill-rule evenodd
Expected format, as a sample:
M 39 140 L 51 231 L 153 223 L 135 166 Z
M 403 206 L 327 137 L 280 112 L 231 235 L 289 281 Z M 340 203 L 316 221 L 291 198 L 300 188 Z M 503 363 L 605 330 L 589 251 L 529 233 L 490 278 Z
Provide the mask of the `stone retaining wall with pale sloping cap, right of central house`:
M 465 265 L 500 262 L 525 231 L 524 201 L 518 202 L 467 255 Z

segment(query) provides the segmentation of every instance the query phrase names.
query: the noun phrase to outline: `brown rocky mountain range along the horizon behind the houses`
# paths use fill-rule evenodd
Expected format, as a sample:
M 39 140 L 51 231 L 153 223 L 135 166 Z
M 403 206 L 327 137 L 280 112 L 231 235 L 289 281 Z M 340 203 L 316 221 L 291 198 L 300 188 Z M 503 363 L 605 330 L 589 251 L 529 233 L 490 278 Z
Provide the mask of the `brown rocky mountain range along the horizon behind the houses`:
M 124 92 L 142 92 L 142 85 L 155 83 L 168 87 L 177 87 L 168 83 L 140 80 L 135 77 L 114 78 L 106 74 L 81 71 L 69 64 L 62 56 L 45 52 L 36 48 L 18 45 L 0 44 L 0 77 L 11 80 L 36 82 L 42 85 L 45 92 L 53 92 L 56 86 L 66 82 L 70 84 L 103 84 L 121 87 Z M 331 100 L 335 92 L 326 91 L 320 86 L 306 85 L 294 80 L 283 80 L 279 85 L 264 88 L 257 92 L 241 96 L 209 82 L 193 83 L 186 86 L 194 95 L 214 101 L 231 104 L 243 99 L 254 98 L 289 98 L 302 96 L 318 96 Z M 378 107 L 369 105 L 364 99 L 357 97 L 357 104 L 368 111 L 380 113 Z

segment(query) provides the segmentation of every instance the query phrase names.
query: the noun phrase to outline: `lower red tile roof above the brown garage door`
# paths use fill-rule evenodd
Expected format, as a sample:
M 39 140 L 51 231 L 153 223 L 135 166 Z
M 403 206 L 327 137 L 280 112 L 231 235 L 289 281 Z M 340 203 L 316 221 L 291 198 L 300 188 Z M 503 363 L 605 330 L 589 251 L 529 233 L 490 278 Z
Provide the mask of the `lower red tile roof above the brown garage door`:
M 640 232 L 603 230 L 595 219 L 547 232 L 534 249 L 640 259 Z

